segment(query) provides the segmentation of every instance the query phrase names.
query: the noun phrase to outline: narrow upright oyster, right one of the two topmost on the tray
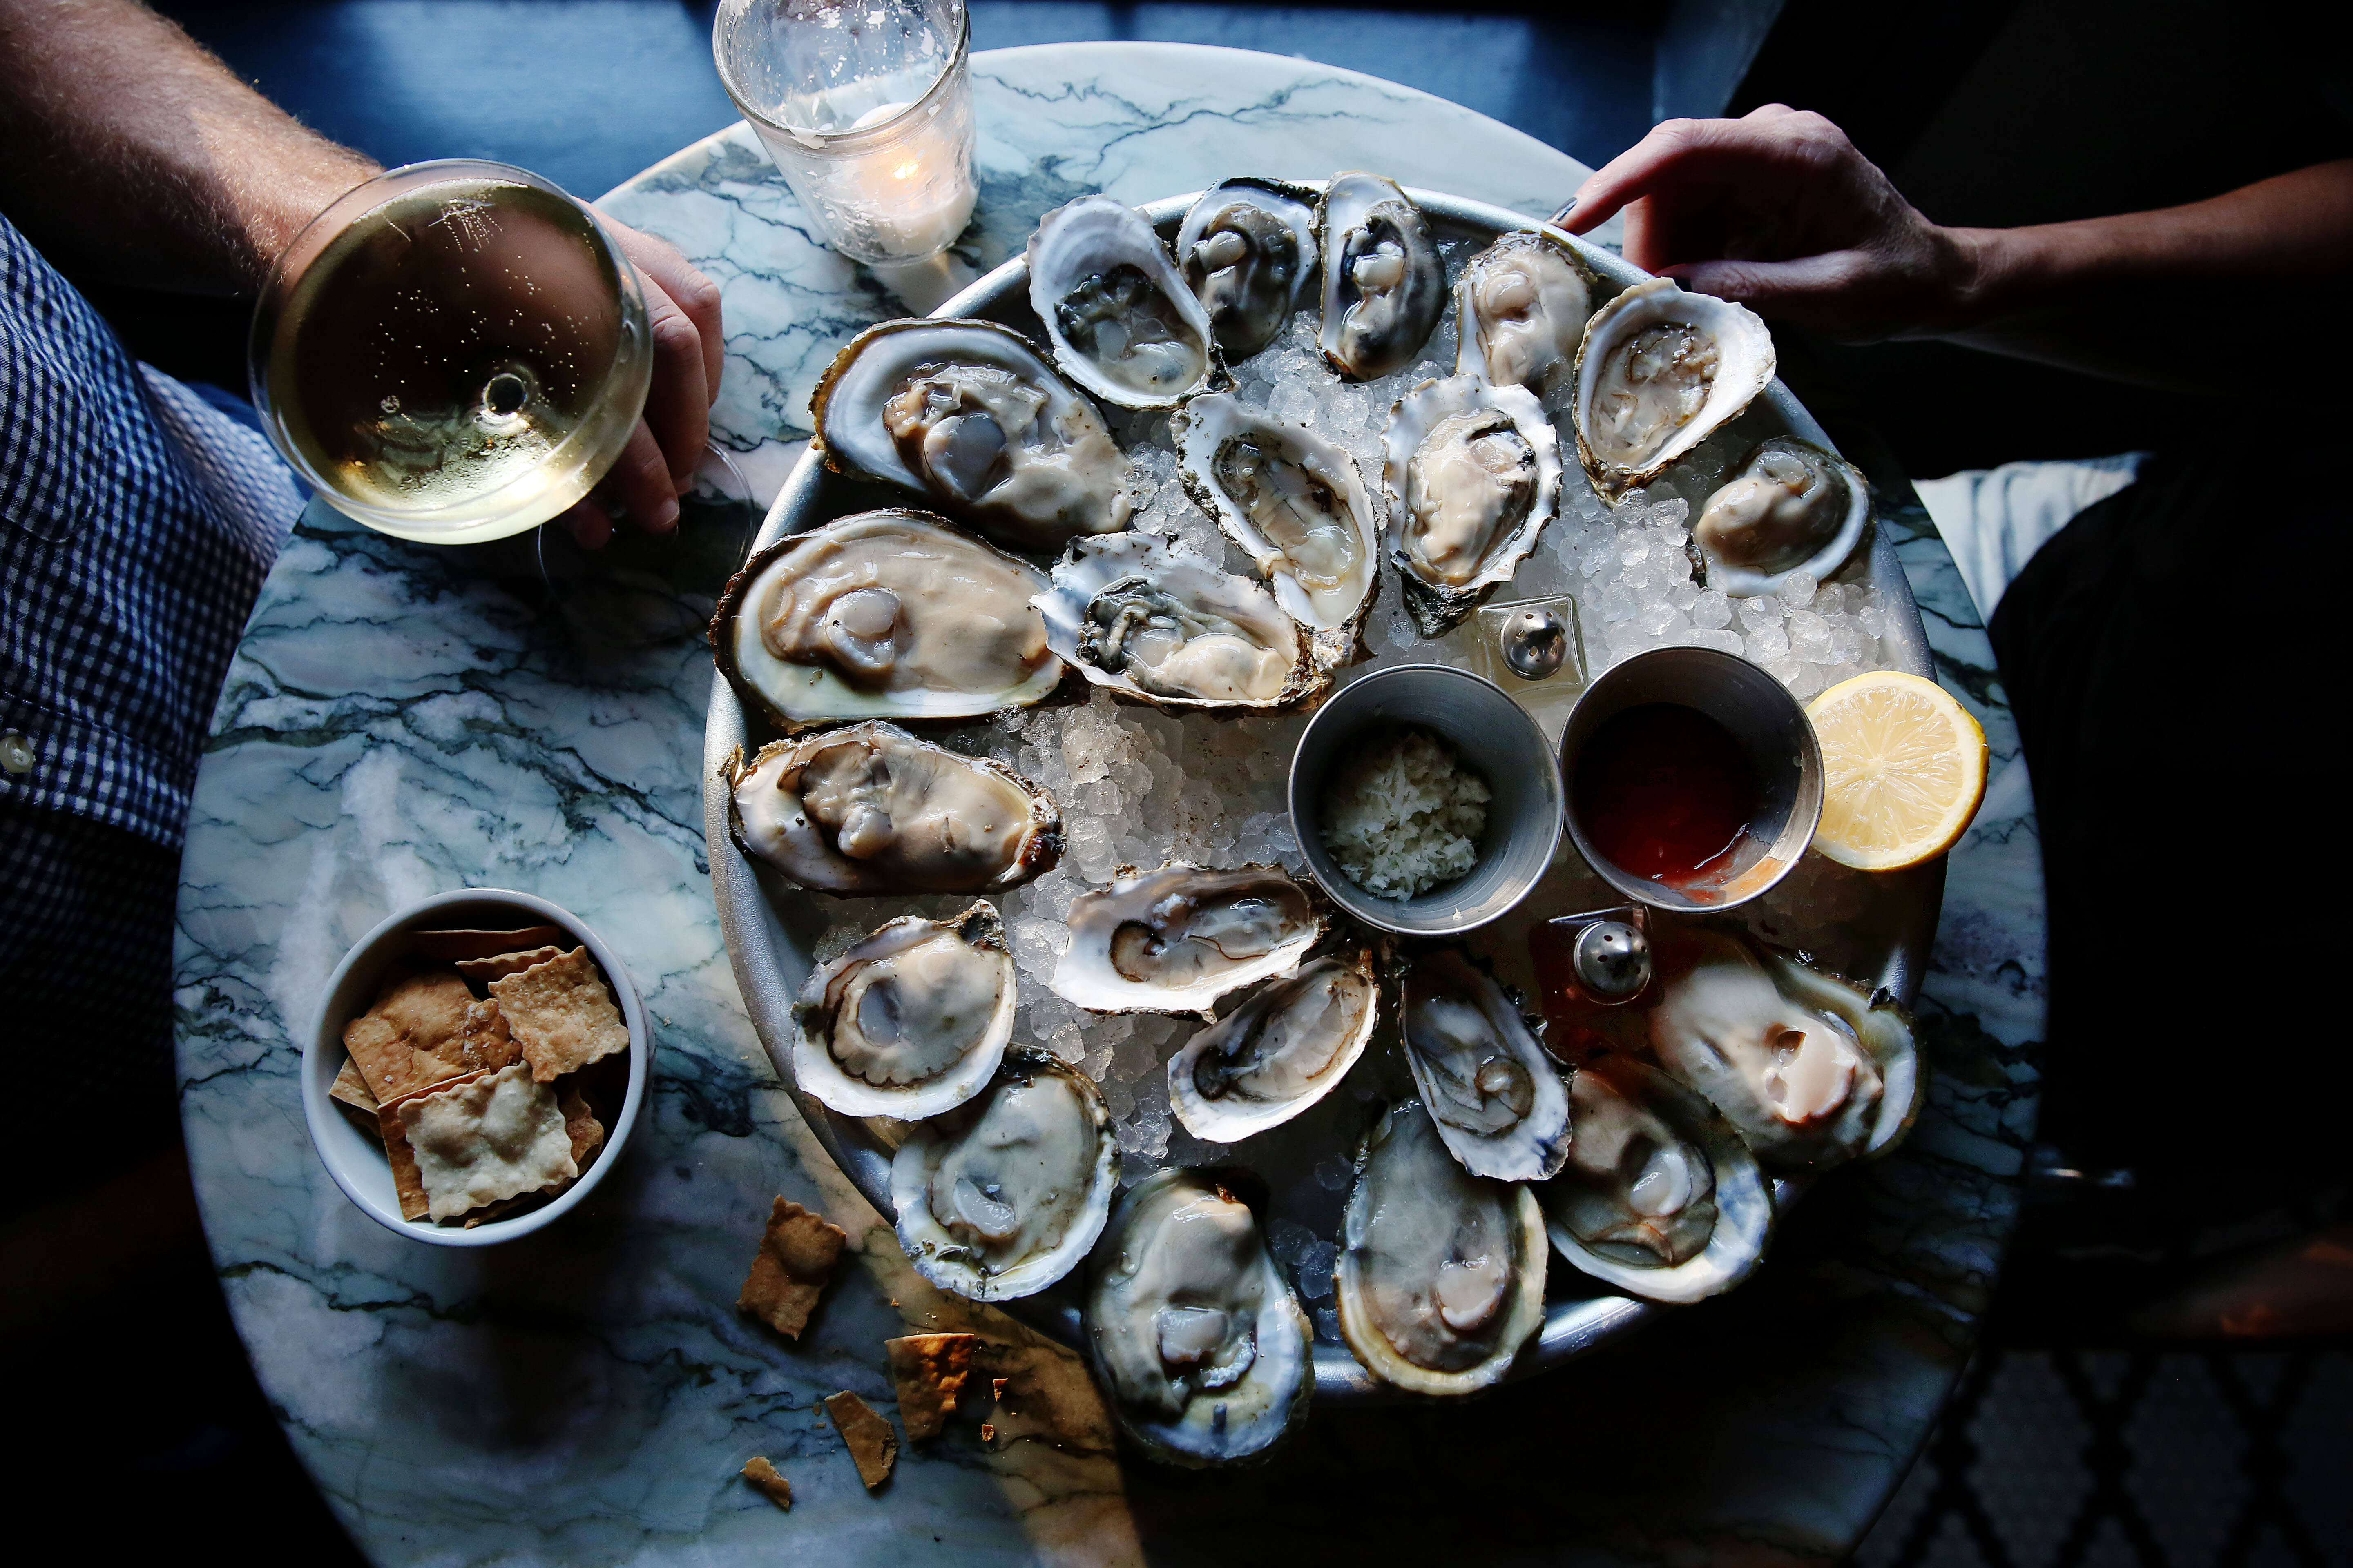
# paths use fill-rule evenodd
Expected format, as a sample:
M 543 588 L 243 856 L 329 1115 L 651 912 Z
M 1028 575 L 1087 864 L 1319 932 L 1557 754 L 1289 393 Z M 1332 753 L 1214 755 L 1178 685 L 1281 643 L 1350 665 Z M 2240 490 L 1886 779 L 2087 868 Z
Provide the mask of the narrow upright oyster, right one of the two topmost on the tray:
M 1447 306 L 1428 219 L 1379 174 L 1334 174 L 1322 207 L 1322 355 L 1344 381 L 1412 362 Z

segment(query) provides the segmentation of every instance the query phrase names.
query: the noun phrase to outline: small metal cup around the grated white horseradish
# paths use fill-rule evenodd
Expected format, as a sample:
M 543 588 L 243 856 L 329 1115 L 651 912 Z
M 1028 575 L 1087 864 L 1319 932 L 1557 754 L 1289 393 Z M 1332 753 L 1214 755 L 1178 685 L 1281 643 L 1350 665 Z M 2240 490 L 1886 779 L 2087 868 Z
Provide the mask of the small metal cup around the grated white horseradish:
M 1334 769 L 1384 731 L 1419 726 L 1487 780 L 1478 863 L 1417 898 L 1379 898 L 1322 846 L 1322 795 Z M 1501 686 L 1452 665 L 1393 665 L 1341 686 L 1292 752 L 1292 832 L 1332 903 L 1400 936 L 1454 936 L 1506 914 L 1534 891 L 1560 849 L 1560 766 L 1544 731 Z

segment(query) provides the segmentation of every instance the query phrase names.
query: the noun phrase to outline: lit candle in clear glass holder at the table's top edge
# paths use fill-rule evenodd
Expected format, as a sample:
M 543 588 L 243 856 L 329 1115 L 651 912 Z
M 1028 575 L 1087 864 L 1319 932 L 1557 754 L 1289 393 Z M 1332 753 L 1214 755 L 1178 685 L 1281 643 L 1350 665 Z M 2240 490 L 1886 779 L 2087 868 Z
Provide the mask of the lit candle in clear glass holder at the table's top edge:
M 727 94 L 838 252 L 911 263 L 965 233 L 962 0 L 725 0 L 711 38 Z

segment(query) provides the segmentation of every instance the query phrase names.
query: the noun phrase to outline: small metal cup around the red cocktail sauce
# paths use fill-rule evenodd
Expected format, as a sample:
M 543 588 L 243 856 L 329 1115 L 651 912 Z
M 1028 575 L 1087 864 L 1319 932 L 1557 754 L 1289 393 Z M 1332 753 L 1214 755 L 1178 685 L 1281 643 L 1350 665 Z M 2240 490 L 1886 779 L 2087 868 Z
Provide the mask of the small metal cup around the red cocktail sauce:
M 1593 846 L 1577 820 L 1577 762 L 1607 719 L 1645 703 L 1678 703 L 1722 724 L 1748 755 L 1758 809 L 1722 875 L 1692 886 L 1635 877 Z M 1769 891 L 1798 865 L 1821 820 L 1821 745 L 1805 708 L 1758 665 L 1718 649 L 1652 649 L 1598 677 L 1577 698 L 1560 736 L 1569 839 L 1609 886 L 1654 910 L 1711 914 Z

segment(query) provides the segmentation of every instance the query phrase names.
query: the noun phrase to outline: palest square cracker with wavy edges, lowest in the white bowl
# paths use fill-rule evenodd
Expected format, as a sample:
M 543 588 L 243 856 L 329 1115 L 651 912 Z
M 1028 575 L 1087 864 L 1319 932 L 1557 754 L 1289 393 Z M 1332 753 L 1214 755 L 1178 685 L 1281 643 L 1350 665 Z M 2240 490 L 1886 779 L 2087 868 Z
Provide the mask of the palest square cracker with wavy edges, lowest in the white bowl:
M 522 1063 L 398 1107 L 435 1220 L 579 1175 L 555 1091 Z

